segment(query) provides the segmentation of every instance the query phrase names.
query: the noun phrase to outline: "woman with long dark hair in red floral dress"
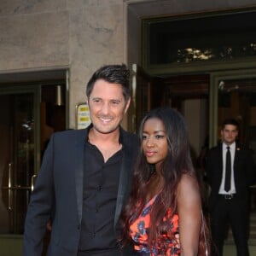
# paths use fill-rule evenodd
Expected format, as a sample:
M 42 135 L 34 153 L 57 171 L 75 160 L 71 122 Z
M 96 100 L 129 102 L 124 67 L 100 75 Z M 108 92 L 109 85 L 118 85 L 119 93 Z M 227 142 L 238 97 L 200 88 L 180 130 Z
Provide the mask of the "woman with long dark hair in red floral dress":
M 138 135 L 141 150 L 122 218 L 133 255 L 207 255 L 201 186 L 183 116 L 171 108 L 154 109 Z

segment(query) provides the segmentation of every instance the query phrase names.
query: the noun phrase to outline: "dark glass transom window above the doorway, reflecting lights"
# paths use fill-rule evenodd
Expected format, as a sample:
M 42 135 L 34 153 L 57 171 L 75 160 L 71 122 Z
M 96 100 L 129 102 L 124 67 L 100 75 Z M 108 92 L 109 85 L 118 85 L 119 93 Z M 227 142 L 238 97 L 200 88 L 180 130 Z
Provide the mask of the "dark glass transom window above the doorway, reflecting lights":
M 149 64 L 221 61 L 256 55 L 256 12 L 144 20 Z M 149 43 L 150 42 L 150 43 Z M 147 55 L 147 53 L 146 53 Z

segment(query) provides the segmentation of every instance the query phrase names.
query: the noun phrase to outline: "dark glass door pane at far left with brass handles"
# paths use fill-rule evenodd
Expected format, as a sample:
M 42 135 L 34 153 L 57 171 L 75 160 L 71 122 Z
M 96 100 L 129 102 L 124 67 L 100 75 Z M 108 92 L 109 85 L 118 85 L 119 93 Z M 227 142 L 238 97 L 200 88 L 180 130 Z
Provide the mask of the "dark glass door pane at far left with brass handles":
M 0 94 L 0 234 L 22 234 L 37 163 L 35 91 Z

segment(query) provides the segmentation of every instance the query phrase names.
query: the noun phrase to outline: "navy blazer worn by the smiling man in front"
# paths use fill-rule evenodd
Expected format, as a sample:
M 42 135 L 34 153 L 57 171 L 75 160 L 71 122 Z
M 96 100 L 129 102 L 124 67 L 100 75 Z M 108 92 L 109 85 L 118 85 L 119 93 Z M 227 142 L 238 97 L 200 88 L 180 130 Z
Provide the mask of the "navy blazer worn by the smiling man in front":
M 132 165 L 138 148 L 135 135 L 122 128 L 120 131 L 123 156 L 114 228 L 130 194 Z M 51 137 L 26 213 L 23 256 L 41 255 L 49 218 L 52 219 L 52 230 L 48 255 L 77 255 L 83 205 L 84 141 L 87 137 L 88 129 L 56 132 Z

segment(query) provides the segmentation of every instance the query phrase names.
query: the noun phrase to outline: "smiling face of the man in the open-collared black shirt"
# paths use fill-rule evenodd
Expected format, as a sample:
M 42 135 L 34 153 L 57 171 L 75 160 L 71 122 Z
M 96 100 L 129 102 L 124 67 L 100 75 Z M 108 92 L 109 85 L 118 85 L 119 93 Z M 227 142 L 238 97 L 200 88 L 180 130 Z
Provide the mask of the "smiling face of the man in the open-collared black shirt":
M 96 80 L 88 99 L 90 120 L 100 133 L 111 133 L 119 128 L 130 99 L 125 102 L 121 84 L 110 84 L 103 79 Z

